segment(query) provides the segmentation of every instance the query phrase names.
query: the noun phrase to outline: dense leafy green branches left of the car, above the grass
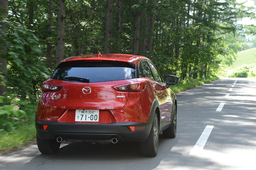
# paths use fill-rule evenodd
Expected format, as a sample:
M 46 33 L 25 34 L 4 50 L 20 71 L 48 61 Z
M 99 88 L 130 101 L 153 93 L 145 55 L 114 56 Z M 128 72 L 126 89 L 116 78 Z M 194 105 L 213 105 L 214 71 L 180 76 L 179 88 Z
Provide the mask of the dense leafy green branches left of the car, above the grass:
M 7 94 L 11 98 L 21 98 L 35 101 L 41 88 L 41 83 L 49 78 L 50 72 L 40 59 L 38 38 L 26 26 L 10 21 L 1 21 L 9 28 L 4 43 L 8 54 L 2 55 L 7 59 Z

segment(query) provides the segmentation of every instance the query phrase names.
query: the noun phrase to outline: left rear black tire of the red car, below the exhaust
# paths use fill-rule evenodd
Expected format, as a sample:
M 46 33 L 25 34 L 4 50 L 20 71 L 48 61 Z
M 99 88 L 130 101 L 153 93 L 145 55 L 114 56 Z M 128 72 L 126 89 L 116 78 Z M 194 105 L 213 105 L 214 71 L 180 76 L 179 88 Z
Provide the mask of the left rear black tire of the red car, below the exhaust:
M 57 140 L 41 140 L 37 136 L 37 147 L 42 154 L 55 154 L 59 151 L 61 142 Z

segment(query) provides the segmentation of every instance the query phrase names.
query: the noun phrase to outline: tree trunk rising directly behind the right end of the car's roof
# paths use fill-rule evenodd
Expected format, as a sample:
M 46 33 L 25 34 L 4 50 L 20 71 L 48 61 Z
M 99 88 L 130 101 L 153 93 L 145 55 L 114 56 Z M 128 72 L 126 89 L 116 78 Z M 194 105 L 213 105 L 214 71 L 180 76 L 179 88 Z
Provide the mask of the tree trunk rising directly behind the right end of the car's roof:
M 142 0 L 138 0 L 138 3 L 141 4 Z M 141 19 L 141 11 L 137 9 L 134 20 L 134 39 L 133 39 L 133 54 L 138 55 L 139 53 L 139 28 L 140 28 L 140 19 Z

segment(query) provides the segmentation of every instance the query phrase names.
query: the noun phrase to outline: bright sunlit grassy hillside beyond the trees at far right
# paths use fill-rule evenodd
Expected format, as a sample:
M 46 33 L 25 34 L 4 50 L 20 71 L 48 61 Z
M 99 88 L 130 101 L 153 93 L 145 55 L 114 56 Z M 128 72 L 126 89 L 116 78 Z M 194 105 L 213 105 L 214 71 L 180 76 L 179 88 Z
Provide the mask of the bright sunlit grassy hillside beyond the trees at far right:
M 256 48 L 239 51 L 236 57 L 236 62 L 234 62 L 233 66 L 227 67 L 225 70 L 232 72 L 235 68 L 242 66 L 243 64 L 256 63 L 256 56 L 253 53 L 256 53 Z

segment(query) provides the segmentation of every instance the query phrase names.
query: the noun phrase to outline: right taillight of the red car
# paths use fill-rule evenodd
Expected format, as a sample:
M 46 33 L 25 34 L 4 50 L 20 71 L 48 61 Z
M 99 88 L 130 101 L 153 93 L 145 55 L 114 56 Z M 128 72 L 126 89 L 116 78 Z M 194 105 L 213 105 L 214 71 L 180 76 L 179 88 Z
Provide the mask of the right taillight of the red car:
M 143 91 L 145 89 L 145 81 L 116 85 L 113 88 L 118 91 Z

